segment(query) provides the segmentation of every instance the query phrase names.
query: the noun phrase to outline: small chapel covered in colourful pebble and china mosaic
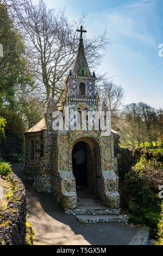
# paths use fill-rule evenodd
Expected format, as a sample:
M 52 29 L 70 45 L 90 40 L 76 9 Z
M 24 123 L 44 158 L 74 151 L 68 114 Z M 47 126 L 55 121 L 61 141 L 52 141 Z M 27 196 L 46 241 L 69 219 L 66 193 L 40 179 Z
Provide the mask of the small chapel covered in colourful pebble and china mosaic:
M 65 79 L 65 91 L 61 99 L 61 113 L 74 119 L 74 111 L 83 114 L 107 111 L 105 103 L 99 105 L 96 92 L 95 72 L 91 74 L 87 65 L 83 38 L 79 40 L 78 52 L 72 70 Z M 53 113 L 58 107 L 52 97 L 49 98 L 45 117 L 25 132 L 26 156 L 24 172 L 27 179 L 33 180 L 37 191 L 52 193 L 65 210 L 77 208 L 77 185 L 86 186 L 94 197 L 101 200 L 110 212 L 120 212 L 118 193 L 117 159 L 114 156 L 114 131 L 103 135 L 101 130 L 53 129 Z M 89 125 L 89 122 L 86 124 Z M 87 126 L 86 126 L 87 128 Z M 111 128 L 110 128 L 111 129 Z M 73 155 L 77 149 L 85 151 L 86 161 L 83 167 L 82 181 L 78 176 L 78 167 Z M 81 183 L 83 182 L 83 183 Z M 78 184 L 77 184 L 78 183 Z M 81 183 L 81 184 L 80 184 Z

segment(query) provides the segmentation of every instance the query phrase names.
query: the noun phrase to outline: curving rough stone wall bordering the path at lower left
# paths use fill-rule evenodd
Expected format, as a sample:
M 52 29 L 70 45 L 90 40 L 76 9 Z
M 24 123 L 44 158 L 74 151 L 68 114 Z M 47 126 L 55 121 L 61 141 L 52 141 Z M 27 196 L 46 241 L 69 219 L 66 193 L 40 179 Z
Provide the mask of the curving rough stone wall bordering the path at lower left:
M 26 190 L 21 180 L 10 173 L 15 191 L 0 216 L 0 245 L 24 245 L 26 240 Z

